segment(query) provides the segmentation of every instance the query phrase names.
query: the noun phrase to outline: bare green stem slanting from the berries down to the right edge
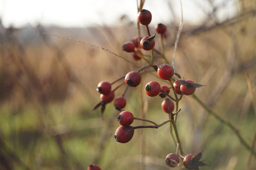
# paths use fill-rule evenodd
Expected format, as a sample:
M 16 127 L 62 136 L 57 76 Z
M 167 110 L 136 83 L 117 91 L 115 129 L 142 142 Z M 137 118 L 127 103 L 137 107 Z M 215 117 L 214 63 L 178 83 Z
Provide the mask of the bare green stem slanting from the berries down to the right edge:
M 245 139 L 242 138 L 240 131 L 235 128 L 234 125 L 232 125 L 229 121 L 225 120 L 225 118 L 221 117 L 220 115 L 218 115 L 217 113 L 215 113 L 212 109 L 210 109 L 209 107 L 207 107 L 207 105 L 205 105 L 195 94 L 192 95 L 196 101 L 212 116 L 214 116 L 215 118 L 217 118 L 218 121 L 220 121 L 222 124 L 227 125 L 231 130 L 234 131 L 234 133 L 237 135 L 238 139 L 240 139 L 240 142 L 242 143 L 243 146 L 245 146 L 247 148 L 247 150 L 250 150 L 251 153 L 256 157 L 256 152 L 253 150 L 253 148 L 251 148 L 246 142 Z

